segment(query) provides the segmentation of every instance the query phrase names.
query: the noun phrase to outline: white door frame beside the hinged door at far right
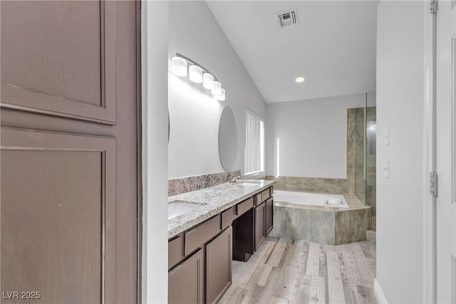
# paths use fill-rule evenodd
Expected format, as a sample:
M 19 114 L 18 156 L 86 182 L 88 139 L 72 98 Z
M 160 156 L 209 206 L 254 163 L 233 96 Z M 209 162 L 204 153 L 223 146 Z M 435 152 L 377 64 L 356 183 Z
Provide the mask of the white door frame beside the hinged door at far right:
M 437 0 L 435 0 L 437 1 Z M 435 196 L 429 192 L 430 172 L 436 170 L 436 14 L 430 12 L 430 0 L 423 1 L 424 78 L 423 78 L 423 302 L 435 303 L 437 282 L 437 242 Z

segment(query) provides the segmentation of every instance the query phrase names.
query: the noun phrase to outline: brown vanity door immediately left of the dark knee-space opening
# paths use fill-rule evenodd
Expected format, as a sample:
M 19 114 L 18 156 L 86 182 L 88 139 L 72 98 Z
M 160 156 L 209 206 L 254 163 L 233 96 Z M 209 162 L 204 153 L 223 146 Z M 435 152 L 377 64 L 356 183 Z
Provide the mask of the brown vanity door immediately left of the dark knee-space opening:
M 217 302 L 232 284 L 232 235 L 229 227 L 206 245 L 206 303 Z

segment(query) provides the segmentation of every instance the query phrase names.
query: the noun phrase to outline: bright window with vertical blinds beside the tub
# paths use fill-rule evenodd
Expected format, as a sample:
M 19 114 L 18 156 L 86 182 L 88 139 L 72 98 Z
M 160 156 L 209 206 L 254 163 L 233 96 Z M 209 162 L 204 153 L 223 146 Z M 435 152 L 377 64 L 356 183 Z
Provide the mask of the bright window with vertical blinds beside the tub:
M 264 172 L 264 120 L 249 109 L 245 113 L 244 174 Z

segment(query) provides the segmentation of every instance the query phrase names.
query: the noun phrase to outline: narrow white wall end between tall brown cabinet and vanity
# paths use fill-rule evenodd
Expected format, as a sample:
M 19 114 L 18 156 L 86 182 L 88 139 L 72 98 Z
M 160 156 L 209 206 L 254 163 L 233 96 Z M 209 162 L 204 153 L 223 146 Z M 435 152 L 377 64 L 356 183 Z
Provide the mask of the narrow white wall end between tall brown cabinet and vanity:
M 142 303 L 167 303 L 168 2 L 141 5 Z

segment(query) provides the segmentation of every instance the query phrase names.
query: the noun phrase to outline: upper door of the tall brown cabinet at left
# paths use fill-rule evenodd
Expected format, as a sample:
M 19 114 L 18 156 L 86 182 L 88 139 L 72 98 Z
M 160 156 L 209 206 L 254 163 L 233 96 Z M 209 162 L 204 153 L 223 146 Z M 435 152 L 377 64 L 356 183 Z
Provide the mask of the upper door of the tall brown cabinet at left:
M 115 1 L 2 1 L 1 105 L 115 124 Z

